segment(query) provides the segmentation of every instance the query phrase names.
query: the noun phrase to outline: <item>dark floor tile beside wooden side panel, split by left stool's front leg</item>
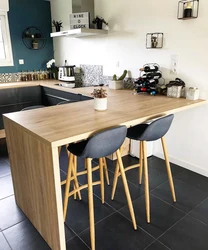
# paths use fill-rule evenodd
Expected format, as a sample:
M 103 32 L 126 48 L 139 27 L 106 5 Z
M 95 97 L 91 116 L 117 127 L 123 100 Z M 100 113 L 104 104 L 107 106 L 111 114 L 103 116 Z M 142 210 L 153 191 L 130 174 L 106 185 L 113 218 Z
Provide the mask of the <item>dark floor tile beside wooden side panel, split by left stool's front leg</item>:
M 89 227 L 88 194 L 84 190 L 81 192 L 82 200 L 69 198 L 66 225 L 72 228 L 77 234 Z M 101 200 L 94 196 L 95 223 L 113 213 L 114 210 L 107 204 L 102 204 Z

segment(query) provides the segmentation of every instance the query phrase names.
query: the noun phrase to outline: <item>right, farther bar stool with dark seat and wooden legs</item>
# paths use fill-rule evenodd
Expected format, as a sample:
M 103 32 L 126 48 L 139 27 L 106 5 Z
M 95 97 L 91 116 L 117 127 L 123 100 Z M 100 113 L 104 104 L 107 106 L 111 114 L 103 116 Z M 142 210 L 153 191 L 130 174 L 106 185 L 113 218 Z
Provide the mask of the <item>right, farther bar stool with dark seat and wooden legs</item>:
M 145 179 L 145 203 L 146 203 L 146 216 L 147 222 L 150 223 L 150 197 L 149 197 L 149 180 L 148 180 L 148 166 L 147 166 L 147 151 L 146 151 L 146 142 L 147 141 L 156 141 L 161 139 L 166 169 L 168 174 L 168 180 L 170 184 L 170 189 L 172 193 L 173 201 L 176 202 L 175 189 L 173 184 L 173 178 L 170 168 L 170 163 L 168 160 L 167 147 L 165 143 L 164 135 L 168 132 L 171 123 L 173 121 L 174 115 L 168 115 L 165 117 L 158 118 L 152 122 L 146 124 L 139 124 L 134 127 L 131 127 L 127 131 L 127 137 L 129 139 L 140 141 L 140 157 L 139 157 L 139 184 L 142 182 L 142 170 L 143 170 L 143 161 L 144 161 L 144 179 Z M 134 167 L 135 165 L 133 165 Z M 132 168 L 133 168 L 132 167 Z M 131 166 L 127 170 L 131 169 Z M 115 190 L 117 185 L 118 177 L 120 176 L 119 168 L 116 167 L 113 188 L 112 188 L 112 200 L 115 196 Z

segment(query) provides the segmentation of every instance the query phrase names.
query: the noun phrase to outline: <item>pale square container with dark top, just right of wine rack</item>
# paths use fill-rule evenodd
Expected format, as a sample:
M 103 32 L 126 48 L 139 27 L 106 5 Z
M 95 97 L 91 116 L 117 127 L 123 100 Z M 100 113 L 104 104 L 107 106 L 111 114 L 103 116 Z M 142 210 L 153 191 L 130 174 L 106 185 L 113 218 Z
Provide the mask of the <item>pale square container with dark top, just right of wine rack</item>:
M 180 78 L 176 78 L 174 81 L 170 81 L 166 86 L 167 86 L 168 97 L 173 97 L 173 98 L 184 97 L 185 82 Z

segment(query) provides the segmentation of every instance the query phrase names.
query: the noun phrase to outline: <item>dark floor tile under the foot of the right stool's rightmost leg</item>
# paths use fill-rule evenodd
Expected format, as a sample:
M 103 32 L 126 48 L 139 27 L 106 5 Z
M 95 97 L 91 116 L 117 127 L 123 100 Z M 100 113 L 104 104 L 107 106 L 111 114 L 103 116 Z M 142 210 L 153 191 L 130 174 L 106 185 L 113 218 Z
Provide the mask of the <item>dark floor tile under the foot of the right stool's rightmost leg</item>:
M 152 194 L 158 196 L 164 201 L 167 201 L 185 213 L 190 212 L 207 197 L 205 192 L 177 179 L 174 180 L 174 185 L 177 199 L 176 203 L 172 200 L 168 182 L 153 190 Z

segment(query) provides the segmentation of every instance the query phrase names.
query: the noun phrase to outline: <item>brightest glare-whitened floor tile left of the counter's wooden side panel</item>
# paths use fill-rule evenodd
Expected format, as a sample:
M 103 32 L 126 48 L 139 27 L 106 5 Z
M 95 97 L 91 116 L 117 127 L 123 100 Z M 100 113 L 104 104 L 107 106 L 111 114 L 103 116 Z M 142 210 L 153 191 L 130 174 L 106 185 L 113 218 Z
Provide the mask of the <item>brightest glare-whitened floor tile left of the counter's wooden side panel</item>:
M 18 208 L 14 196 L 0 200 L 0 229 L 4 230 L 26 219 Z

